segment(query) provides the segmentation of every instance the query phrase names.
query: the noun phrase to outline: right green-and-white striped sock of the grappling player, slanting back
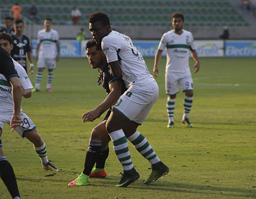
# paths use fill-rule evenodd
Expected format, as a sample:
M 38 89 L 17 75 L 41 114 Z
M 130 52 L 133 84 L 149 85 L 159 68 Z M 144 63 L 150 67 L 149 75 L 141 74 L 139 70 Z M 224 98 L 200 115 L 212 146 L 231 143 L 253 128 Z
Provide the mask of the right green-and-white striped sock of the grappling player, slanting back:
M 143 155 L 143 157 L 150 161 L 150 164 L 155 164 L 160 161 L 159 157 L 155 154 L 155 151 L 147 142 L 147 139 L 139 131 L 134 132 L 134 134 L 127 139 L 133 143 L 136 150 Z

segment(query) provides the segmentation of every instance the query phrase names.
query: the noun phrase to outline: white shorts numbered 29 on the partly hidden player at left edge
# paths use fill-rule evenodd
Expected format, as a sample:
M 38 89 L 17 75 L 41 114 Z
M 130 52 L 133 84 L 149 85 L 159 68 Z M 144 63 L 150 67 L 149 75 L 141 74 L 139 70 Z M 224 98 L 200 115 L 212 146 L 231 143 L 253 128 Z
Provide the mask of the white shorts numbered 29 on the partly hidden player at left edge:
M 18 132 L 22 138 L 24 138 L 26 131 L 32 131 L 36 128 L 35 124 L 32 122 L 32 120 L 24 113 L 22 110 L 20 113 L 22 117 L 22 123 L 20 126 L 17 126 L 15 128 L 15 131 Z M 11 117 L 13 116 L 13 111 L 0 111 L 0 128 L 3 129 L 3 126 L 5 123 L 10 125 Z M 0 134 L 0 143 L 1 143 L 1 134 Z

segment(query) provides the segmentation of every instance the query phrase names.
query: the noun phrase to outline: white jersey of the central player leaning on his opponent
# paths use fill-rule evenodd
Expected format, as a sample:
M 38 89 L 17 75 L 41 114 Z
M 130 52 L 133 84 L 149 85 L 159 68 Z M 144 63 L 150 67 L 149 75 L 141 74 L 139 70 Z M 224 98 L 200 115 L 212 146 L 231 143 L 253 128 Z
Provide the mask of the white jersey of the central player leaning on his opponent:
M 108 63 L 119 60 L 122 70 L 122 79 L 126 86 L 145 85 L 155 81 L 147 69 L 141 53 L 133 45 L 129 36 L 112 31 L 101 42 L 101 48 Z

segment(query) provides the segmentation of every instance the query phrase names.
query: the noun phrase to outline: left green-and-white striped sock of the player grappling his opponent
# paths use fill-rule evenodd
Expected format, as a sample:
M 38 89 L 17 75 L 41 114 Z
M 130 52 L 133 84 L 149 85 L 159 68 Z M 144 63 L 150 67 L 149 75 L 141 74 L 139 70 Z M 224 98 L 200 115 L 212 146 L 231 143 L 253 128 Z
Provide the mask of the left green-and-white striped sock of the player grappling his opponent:
M 119 129 L 117 131 L 113 131 L 109 134 L 109 136 L 112 139 L 115 154 L 123 166 L 123 171 L 133 169 L 133 162 L 131 161 L 127 139 L 123 130 Z

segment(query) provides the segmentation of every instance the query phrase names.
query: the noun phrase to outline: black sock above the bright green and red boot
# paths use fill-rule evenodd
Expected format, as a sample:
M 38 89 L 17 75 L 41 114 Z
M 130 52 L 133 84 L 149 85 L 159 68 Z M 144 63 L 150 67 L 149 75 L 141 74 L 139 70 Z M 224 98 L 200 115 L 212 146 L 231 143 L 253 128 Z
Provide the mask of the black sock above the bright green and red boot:
M 89 146 L 86 156 L 85 156 L 85 163 L 84 163 L 84 173 L 85 175 L 89 176 L 90 172 L 93 169 L 93 166 L 100 156 L 101 146 Z

